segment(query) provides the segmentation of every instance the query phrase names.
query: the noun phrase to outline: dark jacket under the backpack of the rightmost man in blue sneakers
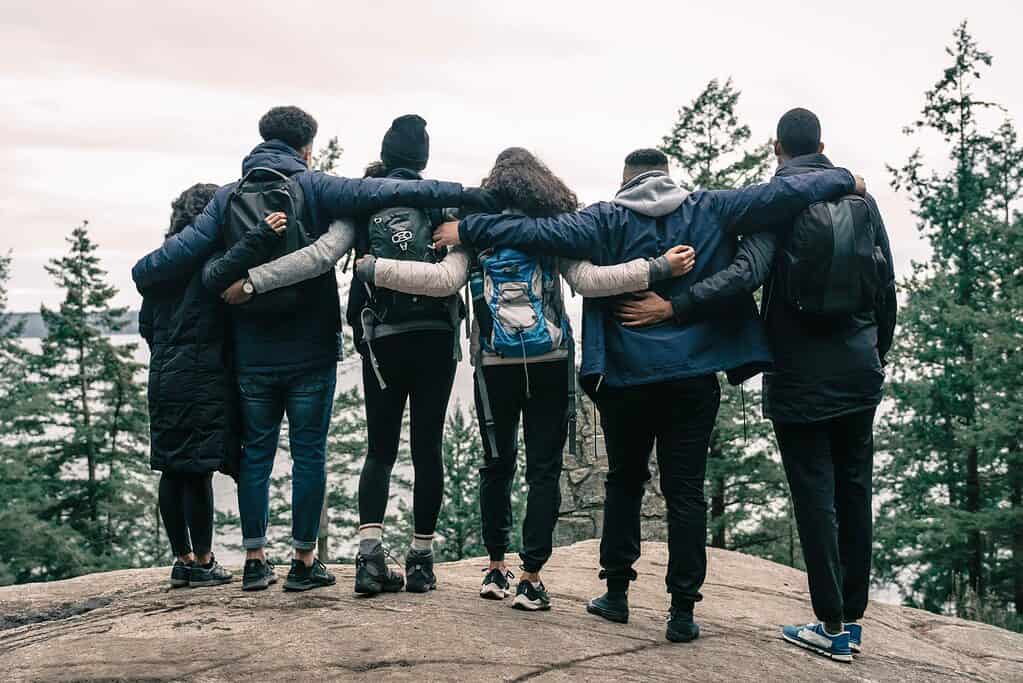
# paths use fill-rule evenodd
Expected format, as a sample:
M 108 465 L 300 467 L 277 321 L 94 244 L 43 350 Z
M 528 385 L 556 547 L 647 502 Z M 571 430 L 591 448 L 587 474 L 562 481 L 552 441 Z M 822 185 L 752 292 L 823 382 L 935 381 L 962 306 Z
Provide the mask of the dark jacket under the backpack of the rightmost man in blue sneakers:
M 784 164 L 777 175 L 793 177 L 833 168 L 824 154 L 806 154 Z M 881 213 L 874 197 L 864 198 L 878 226 L 876 245 L 887 261 L 887 286 L 874 311 L 815 322 L 774 293 L 773 274 L 764 287 L 764 323 L 774 367 L 764 373 L 763 404 L 764 414 L 772 420 L 815 422 L 870 410 L 881 402 L 882 365 L 895 330 L 895 271 Z M 790 227 L 779 235 L 780 246 Z

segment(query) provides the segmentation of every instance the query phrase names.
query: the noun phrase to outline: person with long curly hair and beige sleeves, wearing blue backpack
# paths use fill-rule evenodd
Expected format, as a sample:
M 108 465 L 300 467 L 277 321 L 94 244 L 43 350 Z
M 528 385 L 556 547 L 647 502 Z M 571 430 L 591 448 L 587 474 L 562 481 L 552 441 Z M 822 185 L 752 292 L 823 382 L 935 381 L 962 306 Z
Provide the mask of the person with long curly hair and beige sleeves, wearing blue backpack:
M 498 154 L 482 187 L 506 204 L 508 214 L 554 216 L 578 207 L 575 193 L 561 178 L 521 147 L 510 147 Z M 356 275 L 376 287 L 416 295 L 450 297 L 465 285 L 471 266 L 479 259 L 479 255 L 461 248 L 452 249 L 439 263 L 367 256 L 358 262 Z M 607 297 L 646 289 L 659 278 L 684 273 L 692 267 L 693 252 L 678 247 L 660 259 L 636 259 L 609 268 L 547 257 L 540 257 L 538 262 L 544 272 L 561 273 L 579 293 Z M 480 595 L 502 599 L 510 590 L 513 575 L 505 562 L 505 552 L 510 543 L 511 485 L 517 468 L 521 420 L 529 493 L 526 517 L 522 522 L 523 546 L 519 552 L 523 575 L 511 604 L 528 610 L 550 608 L 540 571 L 551 553 L 552 534 L 561 507 L 563 451 L 570 412 L 574 410 L 570 402 L 570 388 L 574 394 L 575 382 L 574 342 L 557 275 L 553 282 L 554 286 L 543 292 L 544 316 L 554 327 L 567 332 L 553 351 L 528 358 L 525 355 L 503 357 L 485 350 L 481 344 L 479 312 L 472 328 L 476 409 L 485 453 L 480 467 L 480 511 L 483 540 L 490 555 Z M 488 414 L 493 418 L 490 430 L 484 419 Z

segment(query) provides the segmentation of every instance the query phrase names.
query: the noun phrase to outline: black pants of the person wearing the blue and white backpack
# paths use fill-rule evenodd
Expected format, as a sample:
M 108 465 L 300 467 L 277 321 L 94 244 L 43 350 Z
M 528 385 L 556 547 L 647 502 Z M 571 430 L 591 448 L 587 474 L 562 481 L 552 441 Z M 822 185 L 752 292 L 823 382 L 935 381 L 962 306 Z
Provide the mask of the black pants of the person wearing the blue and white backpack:
M 483 375 L 497 443 L 495 454 L 483 423 L 483 404 L 477 381 L 476 414 L 484 450 L 484 463 L 480 467 L 483 543 L 492 560 L 503 559 L 510 543 L 511 485 L 519 457 L 521 415 L 529 493 L 519 557 L 524 571 L 539 572 L 550 559 L 554 525 L 562 506 L 562 460 L 569 418 L 568 361 L 484 366 Z

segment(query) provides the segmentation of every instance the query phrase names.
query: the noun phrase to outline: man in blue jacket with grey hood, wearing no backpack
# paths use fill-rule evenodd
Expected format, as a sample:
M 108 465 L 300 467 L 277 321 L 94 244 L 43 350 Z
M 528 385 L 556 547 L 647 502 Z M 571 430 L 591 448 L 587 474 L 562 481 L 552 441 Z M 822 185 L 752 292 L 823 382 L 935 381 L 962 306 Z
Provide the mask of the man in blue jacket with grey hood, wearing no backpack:
M 435 240 L 447 246 L 542 252 L 597 265 L 690 244 L 696 267 L 652 287 L 671 300 L 727 269 L 736 259 L 738 233 L 769 231 L 810 203 L 854 191 L 864 191 L 862 181 L 834 169 L 738 190 L 686 192 L 669 177 L 663 154 L 637 150 L 626 157 L 623 185 L 612 201 L 553 218 L 470 216 L 441 226 Z M 702 599 L 707 568 L 704 475 L 720 401 L 715 373 L 725 371 L 739 382 L 771 360 L 750 292 L 735 302 L 718 315 L 652 326 L 620 324 L 621 302 L 615 299 L 583 302 L 581 383 L 601 410 L 609 466 L 601 540 L 601 576 L 608 592 L 590 600 L 587 609 L 614 622 L 628 621 L 643 486 L 656 445 L 668 507 L 666 637 L 674 642 L 700 633 L 694 606 Z

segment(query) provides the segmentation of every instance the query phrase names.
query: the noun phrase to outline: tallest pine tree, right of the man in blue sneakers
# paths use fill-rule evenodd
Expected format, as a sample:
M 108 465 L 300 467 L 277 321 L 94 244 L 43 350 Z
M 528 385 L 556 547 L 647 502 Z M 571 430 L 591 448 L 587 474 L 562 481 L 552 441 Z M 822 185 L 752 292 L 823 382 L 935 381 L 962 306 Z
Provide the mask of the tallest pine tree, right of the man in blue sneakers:
M 952 63 L 906 128 L 939 137 L 950 165 L 928 168 L 917 150 L 890 168 L 893 187 L 916 203 L 932 254 L 902 287 L 876 564 L 909 604 L 940 611 L 951 603 L 962 616 L 983 617 L 991 582 L 1006 583 L 1003 558 L 1019 526 L 1018 506 L 1005 512 L 1023 434 L 1006 405 L 1019 397 L 1018 375 L 1008 380 L 1005 371 L 1018 367 L 1020 349 L 1018 257 L 1010 255 L 1020 245 L 1012 207 L 1021 169 L 1011 127 L 984 127 L 996 105 L 976 87 L 991 56 L 966 22 L 953 38 Z

